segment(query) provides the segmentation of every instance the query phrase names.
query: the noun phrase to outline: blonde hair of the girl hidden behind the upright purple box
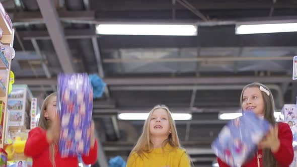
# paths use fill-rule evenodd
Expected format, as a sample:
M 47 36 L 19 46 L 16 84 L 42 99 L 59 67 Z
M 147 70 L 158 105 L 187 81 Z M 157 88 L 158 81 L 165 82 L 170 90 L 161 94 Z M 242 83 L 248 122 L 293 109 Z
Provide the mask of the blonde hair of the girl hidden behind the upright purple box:
M 48 106 L 49 101 L 51 100 L 51 98 L 56 97 L 57 93 L 52 93 L 49 96 L 47 96 L 45 98 L 45 100 L 42 103 L 41 106 L 41 110 L 40 110 L 40 118 L 39 118 L 39 122 L 38 122 L 38 127 L 47 130 L 50 127 L 50 120 L 46 119 L 44 117 L 44 111 L 46 111 L 46 108 Z M 55 143 L 52 142 L 49 145 L 49 157 L 50 157 L 50 161 L 52 163 L 53 166 L 55 166 Z

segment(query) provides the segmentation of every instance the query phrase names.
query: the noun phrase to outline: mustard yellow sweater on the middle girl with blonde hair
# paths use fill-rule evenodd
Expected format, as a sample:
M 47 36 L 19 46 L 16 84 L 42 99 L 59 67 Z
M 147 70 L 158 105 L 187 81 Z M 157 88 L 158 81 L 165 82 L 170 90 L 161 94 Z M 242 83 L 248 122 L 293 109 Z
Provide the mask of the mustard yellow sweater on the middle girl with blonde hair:
M 190 160 L 184 149 L 172 147 L 169 143 L 162 148 L 154 148 L 145 156 L 136 153 L 128 158 L 126 167 L 190 167 Z

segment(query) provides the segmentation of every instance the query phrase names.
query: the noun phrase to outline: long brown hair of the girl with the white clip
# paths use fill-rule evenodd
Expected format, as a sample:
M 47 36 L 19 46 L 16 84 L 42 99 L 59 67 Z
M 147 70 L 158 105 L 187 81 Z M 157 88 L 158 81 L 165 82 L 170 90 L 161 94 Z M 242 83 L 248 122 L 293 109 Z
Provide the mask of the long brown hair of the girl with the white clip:
M 242 109 L 242 102 L 243 102 L 243 92 L 247 89 L 247 88 L 259 88 L 260 86 L 262 86 L 265 90 L 267 90 L 269 92 L 269 96 L 263 92 L 260 91 L 263 97 L 263 101 L 264 101 L 264 118 L 271 124 L 271 125 L 275 125 L 276 121 L 274 118 L 274 100 L 273 100 L 273 96 L 271 91 L 269 90 L 269 88 L 267 88 L 266 86 L 264 86 L 263 84 L 260 84 L 258 82 L 253 82 L 247 86 L 244 87 L 244 89 L 242 90 L 241 96 L 240 96 L 240 104 L 241 104 L 241 109 Z M 243 109 L 242 109 L 243 110 Z M 277 162 L 276 159 L 274 158 L 274 155 L 272 154 L 270 149 L 263 149 L 263 158 L 262 158 L 263 164 L 264 166 L 269 166 L 269 167 L 276 167 Z

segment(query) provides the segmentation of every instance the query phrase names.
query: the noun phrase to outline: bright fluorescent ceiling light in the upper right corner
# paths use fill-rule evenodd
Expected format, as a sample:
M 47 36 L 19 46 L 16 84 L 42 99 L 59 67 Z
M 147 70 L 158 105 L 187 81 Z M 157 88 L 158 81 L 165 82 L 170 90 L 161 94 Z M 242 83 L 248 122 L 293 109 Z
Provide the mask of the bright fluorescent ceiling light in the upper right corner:
M 297 31 L 297 23 L 237 25 L 236 34 L 259 34 Z

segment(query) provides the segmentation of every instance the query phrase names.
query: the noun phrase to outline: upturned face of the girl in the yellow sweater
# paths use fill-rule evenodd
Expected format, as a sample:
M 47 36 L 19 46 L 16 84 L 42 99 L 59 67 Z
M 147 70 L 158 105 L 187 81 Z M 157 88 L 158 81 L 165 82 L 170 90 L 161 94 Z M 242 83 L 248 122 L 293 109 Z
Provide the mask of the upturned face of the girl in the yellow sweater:
M 156 109 L 150 120 L 150 134 L 152 136 L 168 136 L 170 134 L 170 124 L 168 113 L 165 109 Z

